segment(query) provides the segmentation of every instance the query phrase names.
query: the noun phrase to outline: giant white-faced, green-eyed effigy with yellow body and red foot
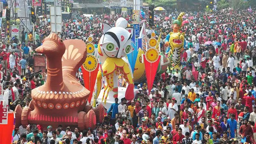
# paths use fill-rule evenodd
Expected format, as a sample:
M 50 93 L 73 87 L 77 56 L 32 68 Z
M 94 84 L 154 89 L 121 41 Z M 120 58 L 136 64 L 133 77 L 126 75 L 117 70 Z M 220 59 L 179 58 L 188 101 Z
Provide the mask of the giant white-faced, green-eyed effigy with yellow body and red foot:
M 101 63 L 97 74 L 94 94 L 94 104 L 104 87 L 103 99 L 105 103 L 110 91 L 114 92 L 113 97 L 118 96 L 118 76 L 122 75 L 128 83 L 125 98 L 132 100 L 134 98 L 133 75 L 129 62 L 125 59 L 126 55 L 131 53 L 134 48 L 131 45 L 133 28 L 127 27 L 128 22 L 124 18 L 116 20 L 116 27 L 111 27 L 107 23 L 102 23 L 101 29 L 103 35 L 100 38 L 98 46 L 99 60 Z M 104 82 L 106 79 L 106 82 Z

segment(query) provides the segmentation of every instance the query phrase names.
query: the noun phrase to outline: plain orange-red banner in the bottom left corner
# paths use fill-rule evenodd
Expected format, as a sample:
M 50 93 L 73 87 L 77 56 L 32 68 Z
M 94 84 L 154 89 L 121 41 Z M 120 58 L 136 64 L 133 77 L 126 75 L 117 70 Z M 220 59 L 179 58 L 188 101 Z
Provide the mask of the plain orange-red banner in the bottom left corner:
M 0 124 L 0 140 L 3 144 L 12 143 L 12 131 L 13 131 L 14 114 L 8 113 L 8 123 Z

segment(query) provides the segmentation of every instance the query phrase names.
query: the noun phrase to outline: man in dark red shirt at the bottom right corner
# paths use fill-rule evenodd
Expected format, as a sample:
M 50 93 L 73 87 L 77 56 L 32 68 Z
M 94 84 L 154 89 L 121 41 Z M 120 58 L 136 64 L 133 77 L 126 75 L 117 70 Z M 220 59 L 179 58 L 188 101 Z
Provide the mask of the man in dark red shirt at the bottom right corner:
M 253 135 L 251 124 L 248 119 L 244 119 L 244 124 L 240 126 L 239 135 L 242 139 L 246 138 L 246 142 L 252 143 L 251 137 Z

